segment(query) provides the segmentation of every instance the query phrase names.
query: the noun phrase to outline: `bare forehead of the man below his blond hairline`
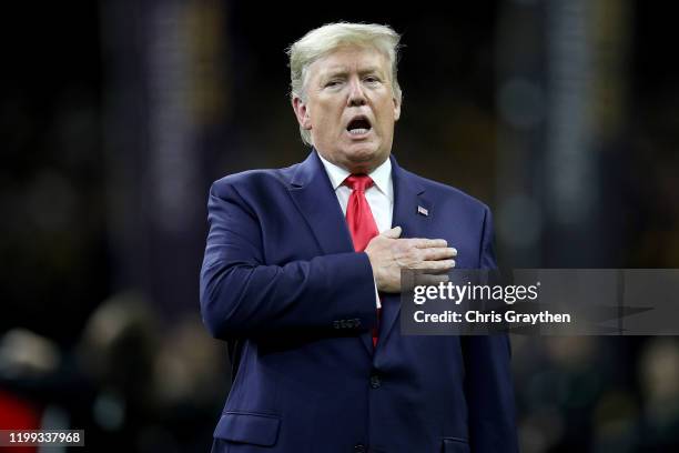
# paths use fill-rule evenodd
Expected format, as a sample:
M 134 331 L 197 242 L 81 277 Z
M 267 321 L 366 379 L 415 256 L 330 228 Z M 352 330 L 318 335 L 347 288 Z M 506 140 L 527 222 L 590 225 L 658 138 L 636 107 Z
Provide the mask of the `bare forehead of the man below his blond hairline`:
M 334 72 L 388 72 L 387 59 L 377 49 L 369 47 L 343 46 L 320 58 L 310 66 L 310 76 Z

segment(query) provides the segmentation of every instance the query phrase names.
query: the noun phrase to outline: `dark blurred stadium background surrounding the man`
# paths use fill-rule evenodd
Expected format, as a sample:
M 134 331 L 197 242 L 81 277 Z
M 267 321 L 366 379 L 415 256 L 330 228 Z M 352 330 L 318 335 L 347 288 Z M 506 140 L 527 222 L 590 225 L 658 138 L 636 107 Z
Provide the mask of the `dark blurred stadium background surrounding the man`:
M 403 33 L 394 154 L 490 205 L 501 266 L 679 266 L 669 6 L 272 3 L 6 8 L 0 429 L 207 451 L 230 382 L 199 315 L 207 189 L 306 157 L 284 49 L 331 21 Z M 676 338 L 513 342 L 524 452 L 679 451 Z

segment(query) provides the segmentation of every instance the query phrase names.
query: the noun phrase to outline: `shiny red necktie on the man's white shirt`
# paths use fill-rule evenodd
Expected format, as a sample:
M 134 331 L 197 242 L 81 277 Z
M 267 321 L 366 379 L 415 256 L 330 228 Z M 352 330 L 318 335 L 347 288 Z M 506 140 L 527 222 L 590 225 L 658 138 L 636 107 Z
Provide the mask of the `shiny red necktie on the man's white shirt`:
M 373 180 L 367 174 L 351 174 L 344 183 L 352 189 L 346 205 L 346 223 L 352 233 L 354 250 L 363 252 L 371 239 L 379 234 L 371 205 L 365 198 L 366 189 L 373 185 Z M 379 309 L 377 309 L 377 323 L 379 324 Z M 377 328 L 373 330 L 373 345 L 377 345 Z

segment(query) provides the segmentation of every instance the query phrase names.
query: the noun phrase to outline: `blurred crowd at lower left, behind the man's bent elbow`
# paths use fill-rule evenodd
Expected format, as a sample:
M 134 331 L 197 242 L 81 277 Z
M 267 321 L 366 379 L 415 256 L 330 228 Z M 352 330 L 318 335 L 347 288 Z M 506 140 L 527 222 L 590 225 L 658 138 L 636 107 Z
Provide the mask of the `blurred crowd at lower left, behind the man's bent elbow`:
M 162 325 L 139 293 L 103 301 L 69 349 L 28 329 L 0 338 L 0 427 L 79 429 L 91 451 L 211 445 L 226 395 L 225 350 L 186 315 Z M 17 451 L 27 450 L 24 447 Z

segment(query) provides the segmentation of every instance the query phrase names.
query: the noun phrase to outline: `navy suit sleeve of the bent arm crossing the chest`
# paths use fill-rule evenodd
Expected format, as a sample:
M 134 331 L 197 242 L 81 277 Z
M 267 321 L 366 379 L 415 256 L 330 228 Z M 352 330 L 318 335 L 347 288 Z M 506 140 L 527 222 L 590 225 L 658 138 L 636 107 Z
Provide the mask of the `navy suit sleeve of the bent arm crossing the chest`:
M 373 272 L 365 253 L 265 263 L 255 211 L 233 184 L 213 184 L 201 270 L 201 314 L 215 338 L 294 329 L 365 331 L 376 323 Z M 295 234 L 291 231 L 290 234 Z

